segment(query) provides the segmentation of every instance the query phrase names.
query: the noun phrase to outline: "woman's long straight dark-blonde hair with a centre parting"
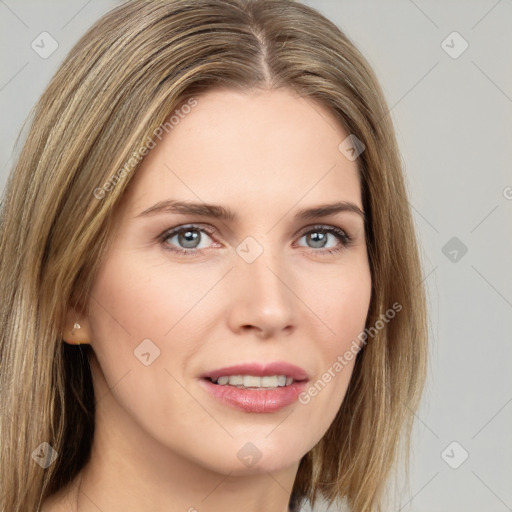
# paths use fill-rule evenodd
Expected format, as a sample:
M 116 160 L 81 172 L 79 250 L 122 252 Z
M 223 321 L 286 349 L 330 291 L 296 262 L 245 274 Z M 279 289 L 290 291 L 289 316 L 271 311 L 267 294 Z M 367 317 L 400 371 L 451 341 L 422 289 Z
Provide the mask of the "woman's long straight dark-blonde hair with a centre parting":
M 293 501 L 380 510 L 401 440 L 409 453 L 426 375 L 425 297 L 394 129 L 369 64 L 338 27 L 291 0 L 129 0 L 82 37 L 51 80 L 4 195 L 3 512 L 37 510 L 90 455 L 90 347 L 63 343 L 67 308 L 87 306 L 115 207 L 137 169 L 126 163 L 176 108 L 214 87 L 293 88 L 364 143 L 367 327 L 402 306 L 358 353 L 334 422 L 300 462 Z M 31 457 L 42 442 L 58 453 L 46 469 Z

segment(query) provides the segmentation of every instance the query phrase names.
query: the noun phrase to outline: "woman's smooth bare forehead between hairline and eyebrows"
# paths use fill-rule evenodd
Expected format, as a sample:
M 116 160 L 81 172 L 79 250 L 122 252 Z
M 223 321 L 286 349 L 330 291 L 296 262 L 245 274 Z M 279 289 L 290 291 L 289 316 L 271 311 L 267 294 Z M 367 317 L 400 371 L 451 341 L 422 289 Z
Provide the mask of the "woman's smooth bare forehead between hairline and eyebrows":
M 357 163 L 338 149 L 349 134 L 323 105 L 290 89 L 195 99 L 137 170 L 124 198 L 131 207 L 179 197 L 263 209 L 350 200 L 362 208 Z

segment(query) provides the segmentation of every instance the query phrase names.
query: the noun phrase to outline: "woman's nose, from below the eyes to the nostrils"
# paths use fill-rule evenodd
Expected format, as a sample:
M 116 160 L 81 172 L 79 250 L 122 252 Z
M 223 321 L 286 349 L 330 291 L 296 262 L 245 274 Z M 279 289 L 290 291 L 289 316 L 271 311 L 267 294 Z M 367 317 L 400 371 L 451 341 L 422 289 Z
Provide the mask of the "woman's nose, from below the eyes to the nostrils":
M 228 323 L 237 334 L 261 339 L 289 335 L 296 327 L 293 273 L 283 257 L 265 249 L 252 263 L 237 256 L 229 286 Z

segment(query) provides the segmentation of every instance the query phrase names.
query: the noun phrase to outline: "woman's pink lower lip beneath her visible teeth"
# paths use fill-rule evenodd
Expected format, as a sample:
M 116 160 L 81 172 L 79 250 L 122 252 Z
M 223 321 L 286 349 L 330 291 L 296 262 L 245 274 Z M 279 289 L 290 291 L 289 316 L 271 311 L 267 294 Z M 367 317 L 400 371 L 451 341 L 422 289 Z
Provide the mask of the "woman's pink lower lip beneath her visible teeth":
M 297 401 L 306 387 L 306 381 L 294 382 L 276 389 L 240 389 L 226 384 L 221 386 L 208 379 L 202 385 L 217 400 L 245 412 L 276 412 Z

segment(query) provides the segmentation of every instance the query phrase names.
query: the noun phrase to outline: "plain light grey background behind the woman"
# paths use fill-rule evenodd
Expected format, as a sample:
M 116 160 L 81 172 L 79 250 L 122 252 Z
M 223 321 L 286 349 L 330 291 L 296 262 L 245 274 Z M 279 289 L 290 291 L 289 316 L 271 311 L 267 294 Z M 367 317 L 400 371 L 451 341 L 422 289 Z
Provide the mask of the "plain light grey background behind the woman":
M 0 190 L 44 86 L 118 3 L 0 0 Z M 338 24 L 377 73 L 422 246 L 429 379 L 410 488 L 399 478 L 385 510 L 512 511 L 512 1 L 305 3 Z M 59 44 L 47 59 L 31 48 L 43 31 Z M 463 40 L 446 39 L 454 31 L 469 45 L 460 55 Z

